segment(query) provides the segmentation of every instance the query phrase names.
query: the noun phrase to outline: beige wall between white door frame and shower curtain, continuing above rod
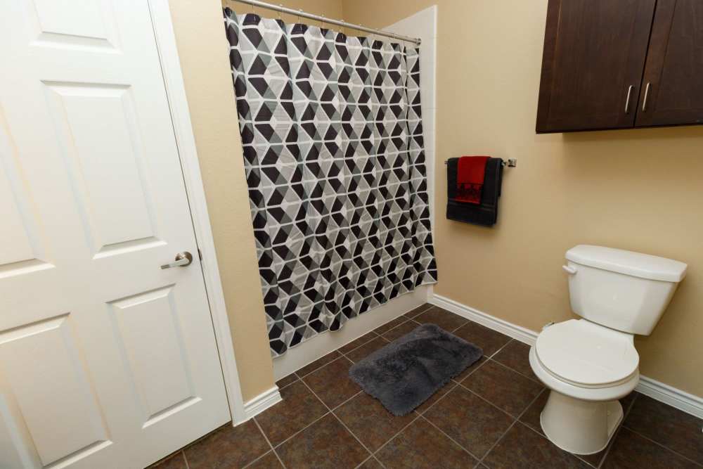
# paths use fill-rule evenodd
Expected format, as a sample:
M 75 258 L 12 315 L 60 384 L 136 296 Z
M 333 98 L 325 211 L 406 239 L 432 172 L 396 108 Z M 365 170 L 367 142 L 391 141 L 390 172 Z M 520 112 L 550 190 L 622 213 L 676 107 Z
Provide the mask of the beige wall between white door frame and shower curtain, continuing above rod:
M 276 1 L 280 3 L 281 0 Z M 250 6 L 224 0 L 236 11 Z M 341 0 L 283 1 L 341 18 Z M 219 0 L 172 0 L 183 79 L 205 185 L 244 400 L 273 386 L 273 366 Z M 256 9 L 257 13 L 263 11 Z M 275 13 L 266 13 L 276 17 Z M 284 15 L 284 20 L 292 20 Z

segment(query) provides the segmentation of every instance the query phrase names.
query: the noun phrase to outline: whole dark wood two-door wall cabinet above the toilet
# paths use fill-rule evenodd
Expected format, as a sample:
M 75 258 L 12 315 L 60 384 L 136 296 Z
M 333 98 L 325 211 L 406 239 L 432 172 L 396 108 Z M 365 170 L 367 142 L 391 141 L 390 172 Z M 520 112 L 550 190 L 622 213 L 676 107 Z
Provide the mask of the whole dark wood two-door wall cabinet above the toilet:
M 703 0 L 550 0 L 538 134 L 703 123 Z

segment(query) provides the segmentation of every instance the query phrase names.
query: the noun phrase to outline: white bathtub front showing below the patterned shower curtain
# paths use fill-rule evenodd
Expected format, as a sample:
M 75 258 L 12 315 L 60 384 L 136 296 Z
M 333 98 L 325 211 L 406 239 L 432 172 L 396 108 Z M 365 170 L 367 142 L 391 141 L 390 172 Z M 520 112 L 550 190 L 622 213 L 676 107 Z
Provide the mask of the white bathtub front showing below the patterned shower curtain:
M 379 307 L 366 311 L 366 313 L 350 319 L 340 330 L 326 331 L 306 340 L 301 344 L 288 349 L 285 354 L 273 359 L 273 378 L 280 378 L 298 371 L 303 366 L 312 363 L 318 358 L 333 352 L 352 340 L 360 338 L 371 330 L 406 314 L 420 304 L 429 301 L 430 293 L 427 285 L 415 288 L 411 293 L 406 293 L 386 302 Z

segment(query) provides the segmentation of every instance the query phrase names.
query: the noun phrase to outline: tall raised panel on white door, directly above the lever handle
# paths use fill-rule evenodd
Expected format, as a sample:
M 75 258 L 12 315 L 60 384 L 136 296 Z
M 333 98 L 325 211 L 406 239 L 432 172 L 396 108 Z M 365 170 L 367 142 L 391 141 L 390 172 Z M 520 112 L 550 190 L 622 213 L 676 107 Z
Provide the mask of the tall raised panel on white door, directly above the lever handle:
M 51 117 L 95 255 L 157 241 L 130 87 L 76 83 L 47 87 Z M 101 126 L 96 129 L 93 120 L 101 121 Z M 122 196 L 116 198 L 115 193 Z

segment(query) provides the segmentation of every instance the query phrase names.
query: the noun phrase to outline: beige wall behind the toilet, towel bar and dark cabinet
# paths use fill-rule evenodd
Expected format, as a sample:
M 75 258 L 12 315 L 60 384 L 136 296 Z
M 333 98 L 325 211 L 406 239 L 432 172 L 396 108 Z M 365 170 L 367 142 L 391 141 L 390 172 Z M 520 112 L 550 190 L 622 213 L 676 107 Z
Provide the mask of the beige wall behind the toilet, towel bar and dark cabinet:
M 703 395 L 703 127 L 534 133 L 547 0 L 345 0 L 352 23 L 389 25 L 439 5 L 435 293 L 533 330 L 568 319 L 560 266 L 591 243 L 688 262 L 640 371 Z M 517 158 L 493 229 L 444 218 L 443 161 Z

